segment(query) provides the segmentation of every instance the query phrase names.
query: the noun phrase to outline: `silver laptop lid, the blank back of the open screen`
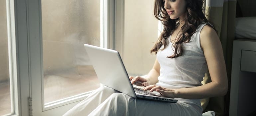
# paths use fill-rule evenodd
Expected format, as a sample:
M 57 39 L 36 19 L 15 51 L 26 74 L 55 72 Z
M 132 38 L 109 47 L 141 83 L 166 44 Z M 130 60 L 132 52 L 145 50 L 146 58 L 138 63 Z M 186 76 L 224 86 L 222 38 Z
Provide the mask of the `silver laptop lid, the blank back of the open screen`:
M 84 47 L 97 77 L 103 85 L 136 98 L 118 51 L 88 44 L 84 44 Z

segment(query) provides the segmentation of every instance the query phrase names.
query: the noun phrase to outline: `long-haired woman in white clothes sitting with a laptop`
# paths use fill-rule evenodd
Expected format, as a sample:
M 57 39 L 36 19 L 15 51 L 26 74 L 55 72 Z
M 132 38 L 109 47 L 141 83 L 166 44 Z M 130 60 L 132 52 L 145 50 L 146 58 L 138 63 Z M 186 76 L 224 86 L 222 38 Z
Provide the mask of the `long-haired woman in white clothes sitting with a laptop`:
M 202 115 L 200 99 L 227 92 L 227 74 L 221 43 L 202 13 L 202 0 L 155 0 L 155 17 L 164 25 L 151 53 L 152 70 L 141 82 L 144 90 L 178 99 L 177 103 L 135 99 L 101 87 L 70 109 L 66 116 L 85 115 Z M 212 82 L 202 85 L 207 67 Z

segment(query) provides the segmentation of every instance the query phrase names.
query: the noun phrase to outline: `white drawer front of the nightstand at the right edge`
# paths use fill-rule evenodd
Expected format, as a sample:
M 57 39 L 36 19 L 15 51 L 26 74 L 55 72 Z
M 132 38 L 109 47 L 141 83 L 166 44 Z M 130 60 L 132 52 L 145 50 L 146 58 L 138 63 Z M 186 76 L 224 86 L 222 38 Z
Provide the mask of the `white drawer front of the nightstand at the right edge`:
M 242 50 L 241 71 L 256 73 L 256 51 Z

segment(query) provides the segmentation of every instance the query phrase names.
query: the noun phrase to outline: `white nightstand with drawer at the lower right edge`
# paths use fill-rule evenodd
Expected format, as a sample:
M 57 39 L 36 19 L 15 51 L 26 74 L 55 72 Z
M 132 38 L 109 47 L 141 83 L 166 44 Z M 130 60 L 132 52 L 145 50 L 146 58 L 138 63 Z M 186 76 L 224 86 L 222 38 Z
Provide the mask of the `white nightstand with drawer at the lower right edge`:
M 256 40 L 233 42 L 229 116 L 256 111 Z

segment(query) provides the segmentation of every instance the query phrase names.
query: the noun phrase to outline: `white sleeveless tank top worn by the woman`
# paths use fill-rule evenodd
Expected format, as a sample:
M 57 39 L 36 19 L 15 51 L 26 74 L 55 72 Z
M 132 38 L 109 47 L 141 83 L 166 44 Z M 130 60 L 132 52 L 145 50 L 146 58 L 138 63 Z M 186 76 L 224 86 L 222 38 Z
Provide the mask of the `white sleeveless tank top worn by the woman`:
M 207 63 L 200 46 L 200 32 L 206 24 L 200 24 L 188 43 L 183 43 L 183 53 L 177 58 L 168 58 L 174 54 L 171 36 L 168 37 L 169 44 L 162 46 L 157 52 L 157 60 L 160 64 L 159 82 L 156 85 L 166 88 L 185 88 L 201 86 L 204 74 L 207 71 Z M 194 106 L 202 112 L 200 99 L 181 99 L 179 101 Z

